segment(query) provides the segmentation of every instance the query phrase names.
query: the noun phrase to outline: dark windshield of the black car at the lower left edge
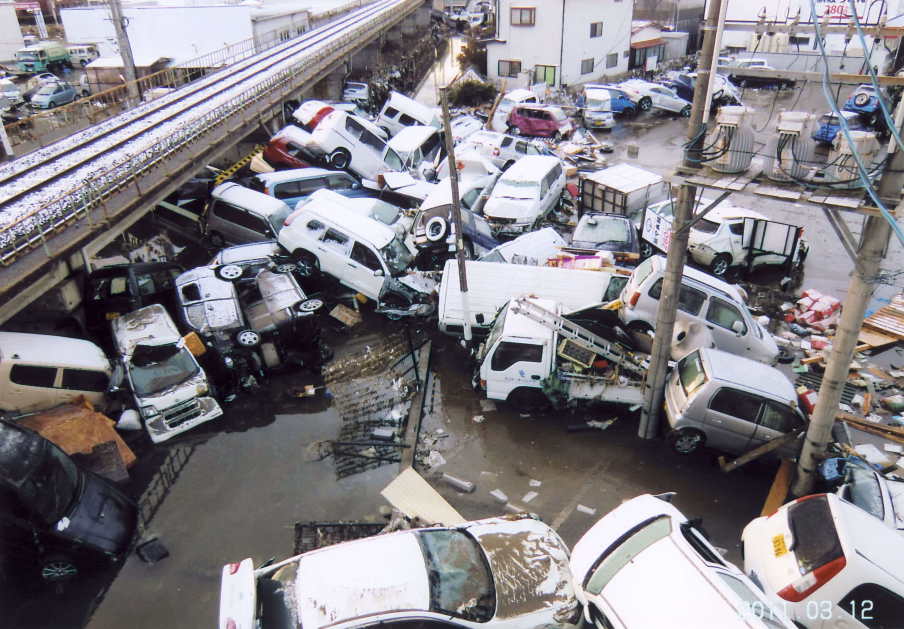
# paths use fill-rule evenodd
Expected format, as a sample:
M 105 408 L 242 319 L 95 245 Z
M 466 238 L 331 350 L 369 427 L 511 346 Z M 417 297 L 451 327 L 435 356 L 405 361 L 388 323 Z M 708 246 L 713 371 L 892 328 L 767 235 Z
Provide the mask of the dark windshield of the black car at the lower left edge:
M 22 491 L 47 524 L 61 519 L 79 493 L 78 466 L 60 448 L 47 443 L 41 462 L 26 481 Z

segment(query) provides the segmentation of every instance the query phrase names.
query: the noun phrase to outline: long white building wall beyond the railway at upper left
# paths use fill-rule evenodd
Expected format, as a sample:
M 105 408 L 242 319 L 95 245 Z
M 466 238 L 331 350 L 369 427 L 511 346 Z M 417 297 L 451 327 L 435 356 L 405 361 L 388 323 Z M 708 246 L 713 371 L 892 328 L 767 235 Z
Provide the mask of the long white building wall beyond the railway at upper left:
M 123 12 L 135 57 L 187 61 L 254 34 L 248 6 L 127 6 Z M 62 9 L 60 14 L 70 43 L 97 43 L 100 56 L 118 56 L 107 8 Z

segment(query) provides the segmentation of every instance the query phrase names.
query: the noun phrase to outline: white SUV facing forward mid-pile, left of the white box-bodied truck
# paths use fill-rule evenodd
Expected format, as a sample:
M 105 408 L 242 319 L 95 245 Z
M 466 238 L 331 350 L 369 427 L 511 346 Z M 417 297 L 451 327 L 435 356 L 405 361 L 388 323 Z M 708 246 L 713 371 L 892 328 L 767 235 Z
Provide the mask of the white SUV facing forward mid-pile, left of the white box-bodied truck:
M 496 182 L 484 205 L 486 220 L 496 235 L 530 232 L 559 203 L 565 183 L 559 157 L 522 157 Z

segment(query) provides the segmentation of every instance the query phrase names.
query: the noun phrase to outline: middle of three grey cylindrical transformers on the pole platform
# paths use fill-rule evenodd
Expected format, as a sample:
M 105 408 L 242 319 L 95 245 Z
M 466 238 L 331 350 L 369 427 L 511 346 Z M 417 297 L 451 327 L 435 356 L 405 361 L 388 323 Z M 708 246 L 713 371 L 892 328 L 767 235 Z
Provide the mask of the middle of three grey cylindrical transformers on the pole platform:
M 796 181 L 815 171 L 816 117 L 804 111 L 781 111 L 776 132 L 763 149 L 763 174 L 775 181 Z

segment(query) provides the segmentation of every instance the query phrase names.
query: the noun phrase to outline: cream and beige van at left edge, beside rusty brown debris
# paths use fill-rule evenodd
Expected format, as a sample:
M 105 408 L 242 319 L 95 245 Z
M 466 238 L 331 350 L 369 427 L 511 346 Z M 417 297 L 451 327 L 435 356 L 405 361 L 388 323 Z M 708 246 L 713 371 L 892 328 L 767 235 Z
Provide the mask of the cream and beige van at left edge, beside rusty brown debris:
M 0 410 L 33 413 L 78 396 L 102 408 L 111 373 L 88 340 L 0 332 Z

